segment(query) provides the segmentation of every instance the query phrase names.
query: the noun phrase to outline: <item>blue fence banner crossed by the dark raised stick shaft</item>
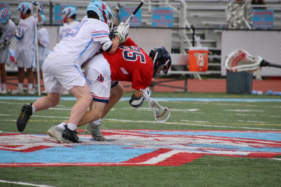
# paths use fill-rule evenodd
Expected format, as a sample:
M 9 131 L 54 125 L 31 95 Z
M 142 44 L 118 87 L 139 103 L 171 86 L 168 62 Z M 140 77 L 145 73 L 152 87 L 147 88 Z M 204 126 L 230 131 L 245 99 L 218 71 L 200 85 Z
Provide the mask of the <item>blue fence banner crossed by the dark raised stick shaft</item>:
M 126 22 L 126 20 L 131 16 L 131 14 L 136 10 L 136 7 L 121 7 L 121 22 Z M 141 8 L 138 10 L 136 15 L 129 22 L 130 26 L 141 26 Z

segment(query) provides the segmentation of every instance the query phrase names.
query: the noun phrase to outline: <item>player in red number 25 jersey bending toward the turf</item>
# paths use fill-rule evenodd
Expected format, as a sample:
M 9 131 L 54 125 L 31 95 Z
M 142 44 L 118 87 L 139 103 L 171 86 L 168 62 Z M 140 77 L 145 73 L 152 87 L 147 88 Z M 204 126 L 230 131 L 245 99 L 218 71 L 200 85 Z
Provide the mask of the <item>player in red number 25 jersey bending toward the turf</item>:
M 113 107 L 113 105 L 106 105 L 110 101 L 111 81 L 132 82 L 135 91 L 129 103 L 132 107 L 138 108 L 150 97 L 147 87 L 151 84 L 151 80 L 167 74 L 170 65 L 171 57 L 164 47 L 156 47 L 147 55 L 129 36 L 126 36 L 124 43 L 114 54 L 103 52 L 94 56 L 85 67 L 87 79 L 91 81 L 93 102 L 90 110 L 85 113 L 77 126 L 89 123 L 85 132 L 97 140 L 106 141 L 97 126 L 101 118 Z M 59 142 L 68 142 L 63 137 L 54 138 Z

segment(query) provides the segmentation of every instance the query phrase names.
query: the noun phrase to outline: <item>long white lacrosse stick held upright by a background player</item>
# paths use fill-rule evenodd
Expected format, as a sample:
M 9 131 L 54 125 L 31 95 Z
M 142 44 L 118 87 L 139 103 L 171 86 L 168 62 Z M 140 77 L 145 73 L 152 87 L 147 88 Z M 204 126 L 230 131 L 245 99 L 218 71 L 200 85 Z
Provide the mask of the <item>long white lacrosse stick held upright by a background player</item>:
M 32 16 L 35 18 L 35 48 L 36 48 L 36 65 L 37 65 L 37 79 L 38 79 L 38 95 L 41 95 L 41 89 L 40 89 L 40 68 L 39 68 L 39 60 L 38 60 L 38 39 L 37 39 L 37 15 L 38 10 L 40 7 L 37 5 L 38 2 L 33 1 L 30 6 L 30 10 L 32 13 Z

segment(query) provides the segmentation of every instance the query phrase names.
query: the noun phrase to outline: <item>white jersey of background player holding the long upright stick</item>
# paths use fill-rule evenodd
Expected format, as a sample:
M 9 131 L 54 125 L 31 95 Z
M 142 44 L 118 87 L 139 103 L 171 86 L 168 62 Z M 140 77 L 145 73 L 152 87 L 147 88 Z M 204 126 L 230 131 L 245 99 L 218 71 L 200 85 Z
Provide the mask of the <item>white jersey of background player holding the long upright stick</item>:
M 21 32 L 22 39 L 17 40 L 17 49 L 35 49 L 35 18 L 29 16 L 21 19 L 17 30 Z

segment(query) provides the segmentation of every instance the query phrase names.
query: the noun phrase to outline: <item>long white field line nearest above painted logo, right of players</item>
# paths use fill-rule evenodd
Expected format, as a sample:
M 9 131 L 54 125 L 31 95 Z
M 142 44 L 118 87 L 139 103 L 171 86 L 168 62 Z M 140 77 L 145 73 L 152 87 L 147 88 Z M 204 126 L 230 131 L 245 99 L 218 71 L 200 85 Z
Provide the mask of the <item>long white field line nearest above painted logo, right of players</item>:
M 151 123 L 151 121 L 133 121 L 133 120 L 120 120 L 120 119 L 104 119 L 108 121 L 116 122 L 138 122 L 138 123 Z M 243 128 L 243 129 L 256 129 L 256 130 L 273 130 L 280 131 L 280 129 L 268 129 L 268 128 L 256 128 L 256 127 L 232 127 L 232 126 L 222 126 L 222 125 L 204 125 L 204 124 L 191 124 L 191 123 L 171 123 L 171 122 L 154 122 L 154 123 L 164 123 L 171 125 L 190 125 L 190 126 L 203 126 L 203 127 L 224 127 L 224 128 Z

